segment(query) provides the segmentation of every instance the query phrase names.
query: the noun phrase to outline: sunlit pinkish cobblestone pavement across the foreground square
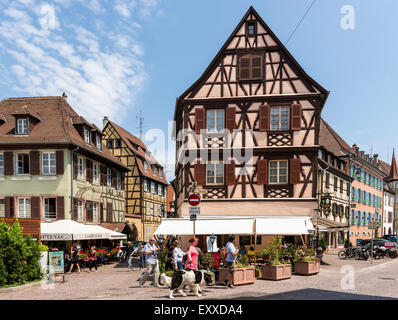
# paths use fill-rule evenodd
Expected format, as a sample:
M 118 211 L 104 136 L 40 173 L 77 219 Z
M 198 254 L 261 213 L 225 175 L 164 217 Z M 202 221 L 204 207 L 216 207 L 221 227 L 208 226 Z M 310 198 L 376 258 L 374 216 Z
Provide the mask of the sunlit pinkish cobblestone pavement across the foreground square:
M 327 265 L 313 276 L 296 276 L 278 282 L 256 280 L 252 285 L 205 288 L 205 296 L 187 298 L 175 294 L 176 299 L 391 299 L 398 298 L 398 259 L 368 261 L 339 260 L 337 255 L 325 255 Z M 342 269 L 342 267 L 348 266 Z M 342 272 L 343 271 L 343 272 Z M 342 289 L 341 280 L 351 277 L 354 289 Z M 126 263 L 102 266 L 97 272 L 73 273 L 65 283 L 56 283 L 54 289 L 41 286 L 11 293 L 1 293 L 0 299 L 168 299 L 168 288 L 154 288 L 147 282 L 143 288 L 137 279 L 141 271 L 128 272 Z M 346 282 L 345 282 L 346 283 Z

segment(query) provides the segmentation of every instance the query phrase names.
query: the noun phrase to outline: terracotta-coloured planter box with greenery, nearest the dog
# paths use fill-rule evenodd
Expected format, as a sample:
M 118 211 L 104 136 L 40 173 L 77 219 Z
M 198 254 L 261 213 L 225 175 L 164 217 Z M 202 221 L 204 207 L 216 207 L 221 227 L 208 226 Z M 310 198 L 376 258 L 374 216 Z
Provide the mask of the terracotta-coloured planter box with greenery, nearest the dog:
M 238 255 L 234 271 L 231 272 L 229 268 L 219 268 L 218 280 L 221 283 L 228 280 L 234 286 L 252 284 L 256 280 L 255 269 L 250 265 L 246 254 Z

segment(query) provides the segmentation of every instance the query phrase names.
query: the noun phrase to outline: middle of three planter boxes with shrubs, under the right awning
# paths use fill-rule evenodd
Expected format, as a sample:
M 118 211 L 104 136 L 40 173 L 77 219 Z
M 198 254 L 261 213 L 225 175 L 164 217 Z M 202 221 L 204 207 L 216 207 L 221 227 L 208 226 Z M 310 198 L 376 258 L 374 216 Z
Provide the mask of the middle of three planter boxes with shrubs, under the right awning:
M 282 247 L 281 237 L 276 238 L 268 248 L 269 259 L 265 260 L 262 267 L 262 279 L 282 280 L 292 277 L 292 265 L 289 257 L 290 248 Z

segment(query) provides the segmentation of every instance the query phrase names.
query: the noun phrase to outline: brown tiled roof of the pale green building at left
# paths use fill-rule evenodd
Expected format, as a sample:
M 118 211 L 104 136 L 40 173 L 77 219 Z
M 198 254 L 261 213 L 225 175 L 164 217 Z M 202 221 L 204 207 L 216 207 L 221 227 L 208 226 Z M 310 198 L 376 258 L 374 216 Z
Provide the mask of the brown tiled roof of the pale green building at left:
M 72 144 L 80 149 L 112 162 L 119 168 L 127 168 L 106 148 L 98 150 L 94 143 L 87 144 L 80 136 L 72 121 L 87 124 L 87 120 L 76 113 L 63 97 L 7 98 L 0 102 L 0 112 L 11 119 L 16 110 L 25 109 L 29 115 L 40 115 L 40 122 L 35 124 L 28 136 L 14 135 L 14 121 L 0 125 L 1 144 Z M 22 111 L 19 111 L 22 112 Z M 75 123 L 76 124 L 76 123 Z M 90 127 L 91 125 L 88 124 Z

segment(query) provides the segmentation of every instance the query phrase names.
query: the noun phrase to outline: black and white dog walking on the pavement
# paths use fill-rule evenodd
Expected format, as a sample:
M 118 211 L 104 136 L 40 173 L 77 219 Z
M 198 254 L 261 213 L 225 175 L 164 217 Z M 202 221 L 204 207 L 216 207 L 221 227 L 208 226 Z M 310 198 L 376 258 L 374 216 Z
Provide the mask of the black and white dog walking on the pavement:
M 161 281 L 170 288 L 170 299 L 174 298 L 174 291 L 186 297 L 187 295 L 183 291 L 185 285 L 193 291 L 195 296 L 201 297 L 202 295 L 200 292 L 202 292 L 202 290 L 200 287 L 206 284 L 212 284 L 211 276 L 204 270 L 178 270 L 174 272 L 172 277 L 168 277 L 162 273 Z

